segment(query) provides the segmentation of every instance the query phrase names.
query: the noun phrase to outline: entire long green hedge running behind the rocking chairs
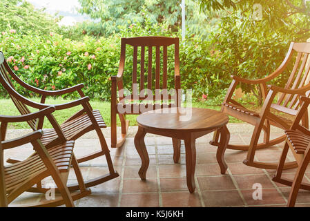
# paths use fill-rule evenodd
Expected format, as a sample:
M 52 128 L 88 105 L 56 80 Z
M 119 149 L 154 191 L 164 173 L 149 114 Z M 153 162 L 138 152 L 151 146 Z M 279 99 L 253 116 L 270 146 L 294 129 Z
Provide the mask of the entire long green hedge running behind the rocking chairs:
M 83 83 L 86 95 L 92 99 L 109 101 L 110 76 L 117 74 L 122 37 L 180 37 L 180 32 L 171 32 L 165 24 L 153 26 L 146 23 L 142 28 L 137 23 L 128 27 L 108 38 L 86 36 L 82 41 L 64 39 L 55 33 L 38 36 L 7 31 L 0 35 L 0 50 L 15 73 L 28 84 L 46 90 L 58 90 Z M 276 37 L 274 40 L 254 41 L 242 33 L 227 30 L 227 26 L 220 28 L 220 34 L 215 32 L 209 39 L 188 36 L 185 42 L 180 42 L 182 88 L 193 89 L 196 99 L 217 97 L 222 100 L 224 89 L 231 83 L 231 74 L 250 78 L 269 75 L 280 65 L 288 48 L 288 42 L 279 44 Z M 169 50 L 168 53 L 173 51 Z M 130 54 L 131 48 L 127 52 L 127 55 Z M 168 66 L 171 75 L 168 86 L 171 88 L 174 84 L 173 69 L 171 63 Z M 130 88 L 131 73 L 132 62 L 128 60 L 124 73 L 127 88 Z M 282 81 L 278 81 L 278 84 Z M 29 97 L 36 96 L 18 87 L 17 90 Z M 0 95 L 6 97 L 3 88 L 0 88 Z M 77 97 L 77 94 L 72 94 L 64 98 Z

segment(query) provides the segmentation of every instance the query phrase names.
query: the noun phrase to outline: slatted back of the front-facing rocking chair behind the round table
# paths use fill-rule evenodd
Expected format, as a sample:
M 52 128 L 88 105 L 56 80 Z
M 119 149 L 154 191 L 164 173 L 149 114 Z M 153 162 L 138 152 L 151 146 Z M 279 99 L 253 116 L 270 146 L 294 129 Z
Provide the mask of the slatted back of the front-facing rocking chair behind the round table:
M 168 95 L 166 97 L 163 95 L 155 96 L 154 92 L 155 90 L 159 91 L 163 89 L 168 89 L 169 46 L 174 46 L 175 89 L 177 90 L 181 88 L 179 39 L 171 37 L 123 38 L 121 45 L 121 58 L 119 63 L 119 71 L 124 71 L 126 61 L 126 46 L 133 47 L 133 74 L 132 74 L 133 90 L 130 92 L 131 100 L 140 101 L 146 98 L 148 98 L 148 100 L 153 101 L 160 100 L 161 102 L 167 102 L 167 98 L 171 100 L 171 95 Z M 155 50 L 155 64 L 153 64 L 154 50 Z M 146 55 L 148 55 L 147 59 Z M 155 67 L 155 73 L 153 73 L 152 71 L 153 67 Z M 123 82 L 119 81 L 118 90 L 120 101 L 124 99 L 124 94 L 121 93 L 122 89 L 124 89 Z M 153 92 L 153 97 L 148 97 L 148 95 L 150 94 L 146 95 L 145 93 L 143 93 L 146 91 L 146 89 L 151 90 Z

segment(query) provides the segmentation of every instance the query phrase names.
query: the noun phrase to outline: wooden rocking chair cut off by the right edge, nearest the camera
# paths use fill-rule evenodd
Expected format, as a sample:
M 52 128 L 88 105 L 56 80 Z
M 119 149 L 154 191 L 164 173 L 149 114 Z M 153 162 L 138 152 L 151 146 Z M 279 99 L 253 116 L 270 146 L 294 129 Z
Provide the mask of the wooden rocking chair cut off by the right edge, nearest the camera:
M 285 131 L 287 135 L 287 140 L 285 142 L 282 155 L 280 157 L 280 162 L 278 164 L 277 172 L 273 177 L 274 182 L 279 182 L 281 184 L 292 186 L 291 193 L 289 194 L 289 201 L 287 206 L 295 206 L 295 202 L 298 195 L 299 189 L 305 189 L 310 191 L 310 185 L 302 183 L 302 178 L 310 162 L 310 131 L 300 124 L 300 120 L 310 104 L 310 99 L 308 97 L 301 97 L 302 106 L 298 111 L 297 117 L 293 122 L 291 128 Z M 296 171 L 294 180 L 289 180 L 288 178 L 282 177 L 282 171 L 284 169 L 284 163 L 287 159 L 287 153 L 291 150 L 293 156 L 298 162 L 298 170 Z

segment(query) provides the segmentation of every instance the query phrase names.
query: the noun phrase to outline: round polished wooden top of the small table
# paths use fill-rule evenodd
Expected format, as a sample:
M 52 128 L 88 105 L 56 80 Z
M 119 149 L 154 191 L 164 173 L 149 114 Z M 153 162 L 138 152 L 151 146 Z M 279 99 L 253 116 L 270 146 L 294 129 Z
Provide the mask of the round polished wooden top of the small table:
M 206 108 L 163 108 L 137 117 L 139 126 L 168 131 L 211 131 L 229 122 L 220 111 Z

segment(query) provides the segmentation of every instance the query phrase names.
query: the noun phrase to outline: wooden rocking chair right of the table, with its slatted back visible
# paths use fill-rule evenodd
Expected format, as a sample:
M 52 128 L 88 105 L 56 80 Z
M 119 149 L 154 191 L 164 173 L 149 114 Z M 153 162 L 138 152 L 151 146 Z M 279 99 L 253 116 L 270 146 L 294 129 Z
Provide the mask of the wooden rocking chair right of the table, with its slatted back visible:
M 285 68 L 289 65 L 289 61 L 294 56 L 295 52 L 297 52 L 295 64 L 286 86 L 284 88 L 279 88 L 278 86 L 267 86 L 268 81 L 275 79 L 275 77 L 278 77 L 281 73 L 283 73 Z M 285 57 L 279 68 L 271 75 L 264 77 L 263 79 L 255 80 L 242 79 L 238 76 L 232 76 L 233 82 L 231 83 L 224 99 L 224 103 L 222 104 L 222 112 L 255 126 L 249 146 L 229 144 L 227 147 L 235 150 L 248 151 L 244 164 L 262 169 L 277 168 L 277 164 L 256 162 L 254 159 L 255 151 L 259 148 L 273 146 L 285 140 L 285 135 L 271 140 L 270 126 L 273 125 L 282 128 L 283 130 L 288 130 L 292 124 L 292 121 L 287 116 L 296 116 L 298 113 L 298 108 L 300 107 L 298 96 L 309 94 L 310 64 L 307 64 L 309 53 L 310 43 L 291 43 L 287 57 Z M 239 83 L 251 84 L 253 86 L 255 84 L 260 85 L 264 97 L 264 104 L 260 110 L 260 113 L 255 113 L 246 109 L 232 98 L 234 90 Z M 278 95 L 278 101 L 274 103 L 273 99 L 276 95 Z M 307 112 L 305 112 L 302 117 L 302 125 L 308 128 Z M 258 144 L 258 139 L 262 130 L 264 131 L 264 142 Z M 218 146 L 219 142 L 217 133 L 215 133 L 211 144 Z M 284 168 L 289 169 L 296 166 L 296 162 L 291 162 L 289 164 L 285 164 Z

